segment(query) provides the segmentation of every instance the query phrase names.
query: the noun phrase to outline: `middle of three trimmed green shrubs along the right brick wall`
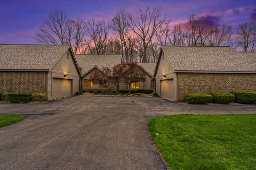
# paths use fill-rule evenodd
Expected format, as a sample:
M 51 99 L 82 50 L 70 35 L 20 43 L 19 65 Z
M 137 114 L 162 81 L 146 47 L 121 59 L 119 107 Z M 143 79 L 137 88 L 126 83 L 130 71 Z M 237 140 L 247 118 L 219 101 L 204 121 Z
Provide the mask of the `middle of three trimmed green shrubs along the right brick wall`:
M 230 92 L 212 92 L 212 103 L 229 104 L 235 101 L 235 95 Z

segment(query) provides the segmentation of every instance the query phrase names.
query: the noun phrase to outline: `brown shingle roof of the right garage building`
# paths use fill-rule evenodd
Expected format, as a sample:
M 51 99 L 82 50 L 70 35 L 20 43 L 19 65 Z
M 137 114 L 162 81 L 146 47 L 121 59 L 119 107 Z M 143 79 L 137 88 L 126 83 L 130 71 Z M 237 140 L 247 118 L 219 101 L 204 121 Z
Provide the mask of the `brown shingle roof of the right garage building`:
M 256 53 L 239 53 L 231 47 L 162 46 L 174 70 L 256 71 Z

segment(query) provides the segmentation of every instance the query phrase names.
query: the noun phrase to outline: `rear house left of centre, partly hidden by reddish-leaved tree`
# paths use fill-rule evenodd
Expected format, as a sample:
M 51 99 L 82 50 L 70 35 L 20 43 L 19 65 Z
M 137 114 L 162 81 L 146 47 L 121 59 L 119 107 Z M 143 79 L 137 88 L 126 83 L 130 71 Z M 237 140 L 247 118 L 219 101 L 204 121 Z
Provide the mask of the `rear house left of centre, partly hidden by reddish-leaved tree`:
M 120 64 L 122 62 L 121 55 L 84 55 L 78 54 L 75 55 L 76 60 L 78 62 L 79 67 L 81 67 L 81 89 L 85 90 L 105 90 L 102 84 L 94 84 L 90 77 L 92 75 L 93 70 L 100 70 L 103 66 L 113 67 L 116 64 Z M 116 87 L 117 90 L 117 87 Z

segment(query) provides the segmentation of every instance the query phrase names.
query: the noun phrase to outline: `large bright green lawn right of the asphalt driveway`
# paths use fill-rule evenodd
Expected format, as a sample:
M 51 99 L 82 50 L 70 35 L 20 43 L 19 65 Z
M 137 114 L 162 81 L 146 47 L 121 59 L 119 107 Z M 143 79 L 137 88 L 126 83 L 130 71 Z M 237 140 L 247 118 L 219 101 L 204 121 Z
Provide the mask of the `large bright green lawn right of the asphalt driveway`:
M 256 169 L 256 114 L 161 116 L 148 130 L 170 169 Z

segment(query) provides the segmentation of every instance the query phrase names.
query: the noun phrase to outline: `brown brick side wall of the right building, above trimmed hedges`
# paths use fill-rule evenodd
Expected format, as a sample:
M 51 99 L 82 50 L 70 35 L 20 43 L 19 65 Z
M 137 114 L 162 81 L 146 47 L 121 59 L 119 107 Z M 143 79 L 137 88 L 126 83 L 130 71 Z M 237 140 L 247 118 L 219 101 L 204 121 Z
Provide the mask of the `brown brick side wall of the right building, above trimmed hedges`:
M 189 93 L 256 90 L 256 74 L 244 73 L 178 73 L 178 101 Z

